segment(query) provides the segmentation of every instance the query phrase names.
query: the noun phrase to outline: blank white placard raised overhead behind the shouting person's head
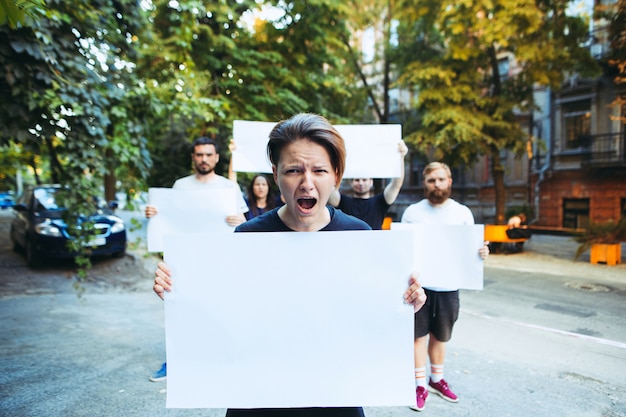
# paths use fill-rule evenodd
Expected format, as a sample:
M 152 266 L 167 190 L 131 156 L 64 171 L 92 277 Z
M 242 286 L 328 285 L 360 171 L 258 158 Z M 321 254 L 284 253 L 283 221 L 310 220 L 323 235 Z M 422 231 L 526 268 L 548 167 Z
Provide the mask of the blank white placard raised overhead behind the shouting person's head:
M 233 170 L 236 172 L 271 173 L 267 158 L 269 134 L 276 123 L 235 120 Z M 398 143 L 402 126 L 335 125 L 346 143 L 344 178 L 395 178 L 401 174 Z

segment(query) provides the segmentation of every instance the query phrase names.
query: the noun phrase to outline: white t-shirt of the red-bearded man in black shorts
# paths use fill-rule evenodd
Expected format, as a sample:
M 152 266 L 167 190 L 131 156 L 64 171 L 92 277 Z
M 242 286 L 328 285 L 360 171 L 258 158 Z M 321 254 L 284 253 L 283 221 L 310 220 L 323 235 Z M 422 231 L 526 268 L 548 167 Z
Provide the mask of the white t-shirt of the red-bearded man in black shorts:
M 411 204 L 402 214 L 402 223 L 417 224 L 474 224 L 472 211 L 448 198 L 443 204 L 433 206 L 427 199 Z M 456 291 L 458 288 L 428 287 L 432 291 Z

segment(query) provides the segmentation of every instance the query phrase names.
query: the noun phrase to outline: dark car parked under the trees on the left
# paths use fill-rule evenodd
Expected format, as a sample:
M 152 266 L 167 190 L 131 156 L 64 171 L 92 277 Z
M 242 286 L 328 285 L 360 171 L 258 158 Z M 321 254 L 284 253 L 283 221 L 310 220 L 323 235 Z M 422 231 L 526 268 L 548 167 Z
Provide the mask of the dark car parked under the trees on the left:
M 62 219 L 66 209 L 58 204 L 60 185 L 39 185 L 25 190 L 13 206 L 11 241 L 15 250 L 23 250 L 30 267 L 47 258 L 73 258 L 68 249 L 67 225 Z M 92 255 L 124 256 L 126 227 L 124 221 L 101 204 L 94 203 L 89 221 L 94 223 L 96 237 L 89 242 Z

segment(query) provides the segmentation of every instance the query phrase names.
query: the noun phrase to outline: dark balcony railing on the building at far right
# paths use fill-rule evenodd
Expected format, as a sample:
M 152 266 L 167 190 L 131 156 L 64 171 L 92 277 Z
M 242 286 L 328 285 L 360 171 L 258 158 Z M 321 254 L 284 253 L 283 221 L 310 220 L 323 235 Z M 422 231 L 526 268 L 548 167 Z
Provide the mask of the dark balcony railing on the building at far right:
M 601 133 L 580 138 L 584 165 L 622 165 L 626 161 L 624 133 Z

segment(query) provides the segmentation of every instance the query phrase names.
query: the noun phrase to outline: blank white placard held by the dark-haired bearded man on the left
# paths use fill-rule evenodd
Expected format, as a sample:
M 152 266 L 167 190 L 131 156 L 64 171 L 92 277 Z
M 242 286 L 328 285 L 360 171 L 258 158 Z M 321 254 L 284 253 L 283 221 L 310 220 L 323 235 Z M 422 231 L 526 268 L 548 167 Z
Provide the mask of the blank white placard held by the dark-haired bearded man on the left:
M 148 221 L 148 252 L 162 252 L 165 237 L 173 233 L 232 233 L 226 217 L 237 212 L 234 188 L 150 188 L 150 204 L 157 215 Z

